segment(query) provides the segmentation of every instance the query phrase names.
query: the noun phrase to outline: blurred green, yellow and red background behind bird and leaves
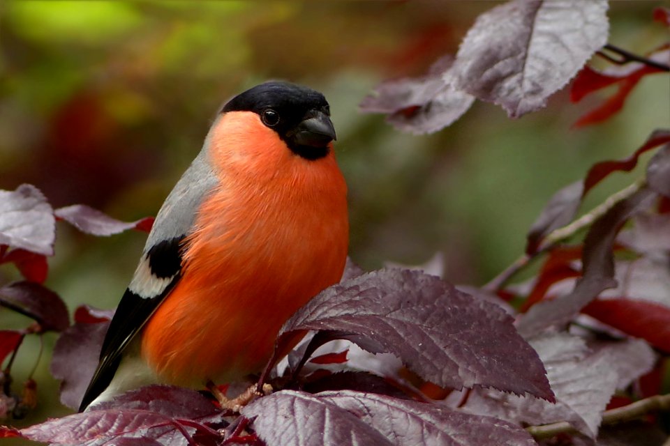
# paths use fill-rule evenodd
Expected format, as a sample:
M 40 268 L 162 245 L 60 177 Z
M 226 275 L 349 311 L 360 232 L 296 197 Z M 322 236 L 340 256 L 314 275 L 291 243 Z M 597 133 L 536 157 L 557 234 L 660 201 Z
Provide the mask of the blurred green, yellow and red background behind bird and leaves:
M 259 82 L 286 79 L 331 103 L 350 187 L 352 259 L 374 269 L 440 252 L 447 279 L 482 284 L 521 254 L 526 229 L 553 192 L 670 123 L 664 75 L 643 79 L 610 121 L 579 130 L 572 123 L 611 90 L 573 105 L 566 89 L 519 120 L 477 103 L 422 137 L 359 113 L 382 80 L 420 75 L 456 52 L 475 17 L 497 3 L 3 1 L 0 189 L 33 183 L 54 207 L 85 203 L 121 220 L 155 215 L 218 107 Z M 610 43 L 639 54 L 664 43 L 667 29 L 651 20 L 663 3 L 611 2 Z M 632 181 L 613 177 L 587 208 Z M 47 286 L 71 309 L 114 307 L 145 238 L 95 238 L 59 224 Z M 11 268 L 0 268 L 0 284 L 16 277 Z M 27 323 L 0 308 L 0 328 Z M 36 372 L 40 406 L 13 424 L 68 412 L 47 371 L 54 340 L 45 337 Z M 38 349 L 27 339 L 17 383 Z

